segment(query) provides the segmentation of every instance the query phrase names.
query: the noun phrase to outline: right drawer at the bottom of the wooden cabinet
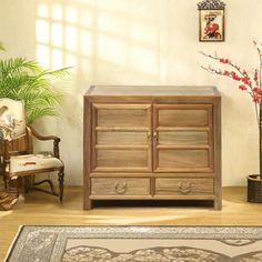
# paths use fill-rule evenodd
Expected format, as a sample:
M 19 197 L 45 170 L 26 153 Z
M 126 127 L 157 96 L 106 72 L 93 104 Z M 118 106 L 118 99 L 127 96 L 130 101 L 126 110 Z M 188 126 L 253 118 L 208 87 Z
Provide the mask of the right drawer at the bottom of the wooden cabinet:
M 155 179 L 155 195 L 213 195 L 213 179 Z

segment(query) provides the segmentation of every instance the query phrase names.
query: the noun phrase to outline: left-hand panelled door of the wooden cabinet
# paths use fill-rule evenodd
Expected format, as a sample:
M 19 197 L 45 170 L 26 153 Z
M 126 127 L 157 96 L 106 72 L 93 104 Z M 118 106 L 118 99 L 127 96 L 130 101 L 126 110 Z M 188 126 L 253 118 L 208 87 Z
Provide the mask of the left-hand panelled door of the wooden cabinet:
M 92 114 L 92 171 L 152 171 L 151 104 L 95 103 Z

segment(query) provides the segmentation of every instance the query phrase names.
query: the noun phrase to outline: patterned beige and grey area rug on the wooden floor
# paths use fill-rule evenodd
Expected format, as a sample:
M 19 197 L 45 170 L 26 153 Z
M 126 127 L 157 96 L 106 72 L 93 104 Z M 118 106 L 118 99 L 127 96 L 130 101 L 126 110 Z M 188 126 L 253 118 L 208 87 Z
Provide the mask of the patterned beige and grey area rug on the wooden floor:
M 9 262 L 256 262 L 262 228 L 22 226 Z

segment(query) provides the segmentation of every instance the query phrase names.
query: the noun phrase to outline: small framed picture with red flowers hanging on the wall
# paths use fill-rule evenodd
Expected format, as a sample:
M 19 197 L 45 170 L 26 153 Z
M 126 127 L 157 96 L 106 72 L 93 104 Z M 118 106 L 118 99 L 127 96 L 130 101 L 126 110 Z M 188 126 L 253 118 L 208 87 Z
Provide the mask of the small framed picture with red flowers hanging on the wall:
M 205 0 L 199 7 L 199 41 L 224 41 L 224 3 L 220 0 Z

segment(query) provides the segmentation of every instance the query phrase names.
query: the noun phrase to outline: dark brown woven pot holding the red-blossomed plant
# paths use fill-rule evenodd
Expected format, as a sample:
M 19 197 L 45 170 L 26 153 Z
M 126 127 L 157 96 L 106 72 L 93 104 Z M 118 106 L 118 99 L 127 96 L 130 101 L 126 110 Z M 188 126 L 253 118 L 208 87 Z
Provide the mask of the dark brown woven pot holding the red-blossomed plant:
M 262 179 L 259 174 L 248 177 L 248 202 L 262 203 Z

